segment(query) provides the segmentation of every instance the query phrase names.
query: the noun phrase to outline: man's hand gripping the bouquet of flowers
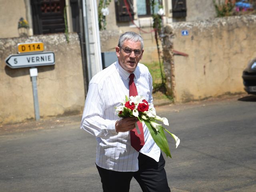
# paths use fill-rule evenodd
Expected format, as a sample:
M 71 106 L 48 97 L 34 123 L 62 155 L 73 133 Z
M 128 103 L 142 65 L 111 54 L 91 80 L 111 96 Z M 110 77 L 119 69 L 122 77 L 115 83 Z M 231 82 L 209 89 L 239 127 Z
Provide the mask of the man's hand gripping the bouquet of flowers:
M 135 128 L 135 123 L 138 121 L 136 117 L 127 117 L 116 121 L 116 132 L 126 132 Z

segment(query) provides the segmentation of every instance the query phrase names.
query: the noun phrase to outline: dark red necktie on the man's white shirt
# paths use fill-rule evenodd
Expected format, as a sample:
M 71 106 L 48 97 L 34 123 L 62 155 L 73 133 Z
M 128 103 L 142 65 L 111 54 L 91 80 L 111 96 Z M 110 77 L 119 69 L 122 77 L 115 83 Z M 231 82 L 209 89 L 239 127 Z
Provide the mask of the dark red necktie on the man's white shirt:
M 130 74 L 129 78 L 130 78 L 130 81 L 129 81 L 130 94 L 129 94 L 129 96 L 136 96 L 136 95 L 138 95 L 138 92 L 137 92 L 136 85 L 133 81 L 134 74 L 133 73 Z M 139 127 L 140 134 L 138 134 L 136 128 L 134 128 L 133 130 L 130 131 L 130 136 L 131 136 L 132 147 L 134 149 L 136 149 L 136 151 L 139 152 L 140 149 L 144 146 L 145 141 L 144 141 L 144 132 L 143 132 L 142 123 L 140 121 L 138 121 L 137 125 Z

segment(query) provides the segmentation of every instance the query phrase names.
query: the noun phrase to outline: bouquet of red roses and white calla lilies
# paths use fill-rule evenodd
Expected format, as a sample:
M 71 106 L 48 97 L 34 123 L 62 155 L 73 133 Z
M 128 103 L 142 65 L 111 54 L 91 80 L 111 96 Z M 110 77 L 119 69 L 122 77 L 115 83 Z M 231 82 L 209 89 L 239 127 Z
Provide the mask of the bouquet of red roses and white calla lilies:
M 168 120 L 165 117 L 161 118 L 157 116 L 154 106 L 148 103 L 143 96 L 130 96 L 130 98 L 125 96 L 125 98 L 121 105 L 116 107 L 116 114 L 121 118 L 135 116 L 140 122 L 144 122 L 159 148 L 166 156 L 172 157 L 164 130 L 174 138 L 176 148 L 180 144 L 180 139 L 164 128 L 162 124 L 158 123 L 160 121 L 165 125 L 169 125 Z M 140 134 L 137 124 L 135 126 L 138 134 Z

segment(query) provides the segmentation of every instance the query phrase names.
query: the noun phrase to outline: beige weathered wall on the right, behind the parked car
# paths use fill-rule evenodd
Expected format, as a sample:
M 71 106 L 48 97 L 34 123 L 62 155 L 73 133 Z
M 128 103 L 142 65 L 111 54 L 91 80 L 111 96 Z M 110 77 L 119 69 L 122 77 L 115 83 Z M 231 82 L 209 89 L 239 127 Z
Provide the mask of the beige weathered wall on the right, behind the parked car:
M 174 50 L 188 54 L 174 56 L 172 89 L 177 102 L 244 92 L 242 71 L 255 58 L 256 15 L 180 22 L 171 27 Z M 182 30 L 188 30 L 188 36 L 182 36 Z

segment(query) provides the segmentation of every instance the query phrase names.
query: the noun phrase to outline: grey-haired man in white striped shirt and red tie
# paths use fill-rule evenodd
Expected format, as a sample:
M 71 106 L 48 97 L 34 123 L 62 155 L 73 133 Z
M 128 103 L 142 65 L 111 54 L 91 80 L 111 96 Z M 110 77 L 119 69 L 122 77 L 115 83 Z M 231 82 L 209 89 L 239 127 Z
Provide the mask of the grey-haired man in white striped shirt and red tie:
M 143 192 L 170 192 L 164 158 L 146 125 L 135 117 L 120 119 L 115 114 L 125 96 L 144 96 L 149 103 L 153 100 L 152 77 L 139 63 L 143 52 L 142 37 L 125 32 L 116 47 L 118 61 L 89 84 L 81 128 L 96 136 L 96 167 L 104 192 L 129 192 L 132 177 Z

